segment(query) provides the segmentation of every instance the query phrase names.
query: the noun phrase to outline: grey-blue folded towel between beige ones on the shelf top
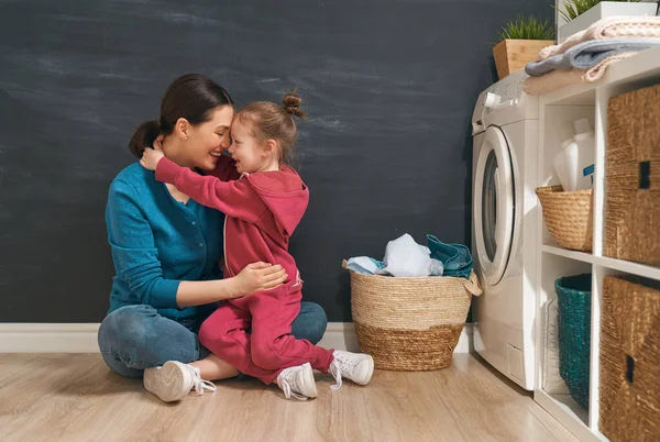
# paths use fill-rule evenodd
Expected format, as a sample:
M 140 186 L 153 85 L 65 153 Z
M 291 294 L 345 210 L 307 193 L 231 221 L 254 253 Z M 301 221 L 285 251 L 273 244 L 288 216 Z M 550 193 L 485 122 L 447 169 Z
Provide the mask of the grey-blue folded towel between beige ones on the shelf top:
M 525 66 L 525 71 L 534 77 L 553 70 L 570 70 L 572 68 L 587 70 L 610 55 L 624 52 L 648 49 L 660 45 L 660 38 L 606 38 L 590 40 L 580 43 L 563 54 L 553 55 L 540 62 L 531 62 Z

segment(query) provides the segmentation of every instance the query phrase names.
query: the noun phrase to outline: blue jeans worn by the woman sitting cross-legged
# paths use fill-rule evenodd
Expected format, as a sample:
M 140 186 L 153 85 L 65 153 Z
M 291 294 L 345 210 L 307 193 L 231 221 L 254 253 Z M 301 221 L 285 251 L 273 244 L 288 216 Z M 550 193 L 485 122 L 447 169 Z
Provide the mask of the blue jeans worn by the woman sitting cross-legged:
M 99 347 L 110 369 L 125 377 L 142 377 L 144 368 L 167 361 L 190 363 L 209 351 L 199 343 L 200 321 L 177 322 L 158 314 L 151 306 L 127 306 L 108 314 L 99 328 Z M 328 325 L 323 308 L 301 302 L 292 334 L 317 344 Z

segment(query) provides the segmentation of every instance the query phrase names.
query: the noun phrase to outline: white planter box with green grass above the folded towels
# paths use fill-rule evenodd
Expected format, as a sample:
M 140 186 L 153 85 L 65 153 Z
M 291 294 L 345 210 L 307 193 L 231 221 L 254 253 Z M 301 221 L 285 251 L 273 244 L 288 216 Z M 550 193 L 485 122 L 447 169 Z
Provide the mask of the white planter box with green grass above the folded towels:
M 557 40 L 563 43 L 569 36 L 583 31 L 606 16 L 656 15 L 658 2 L 641 0 L 556 0 L 558 11 Z

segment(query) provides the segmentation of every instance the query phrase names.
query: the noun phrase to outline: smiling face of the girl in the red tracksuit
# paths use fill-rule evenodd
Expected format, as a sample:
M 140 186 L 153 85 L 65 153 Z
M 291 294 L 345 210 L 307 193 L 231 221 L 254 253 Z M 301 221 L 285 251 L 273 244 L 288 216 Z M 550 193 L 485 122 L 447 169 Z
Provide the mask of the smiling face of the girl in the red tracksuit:
M 229 153 L 237 162 L 239 174 L 253 174 L 271 165 L 272 153 L 254 137 L 250 130 L 250 122 L 243 122 L 241 118 L 234 119 L 231 125 L 231 139 Z

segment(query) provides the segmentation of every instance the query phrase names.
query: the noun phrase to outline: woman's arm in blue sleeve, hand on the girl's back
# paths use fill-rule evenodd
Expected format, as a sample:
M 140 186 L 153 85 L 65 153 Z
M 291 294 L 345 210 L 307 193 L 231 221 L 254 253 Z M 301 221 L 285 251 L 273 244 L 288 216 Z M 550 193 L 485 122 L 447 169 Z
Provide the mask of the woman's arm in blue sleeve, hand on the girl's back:
M 118 275 L 141 303 L 154 308 L 185 308 L 245 296 L 286 280 L 280 266 L 264 263 L 251 264 L 228 279 L 182 281 L 164 278 L 154 235 L 139 200 L 138 190 L 129 181 L 113 181 L 106 221 Z

